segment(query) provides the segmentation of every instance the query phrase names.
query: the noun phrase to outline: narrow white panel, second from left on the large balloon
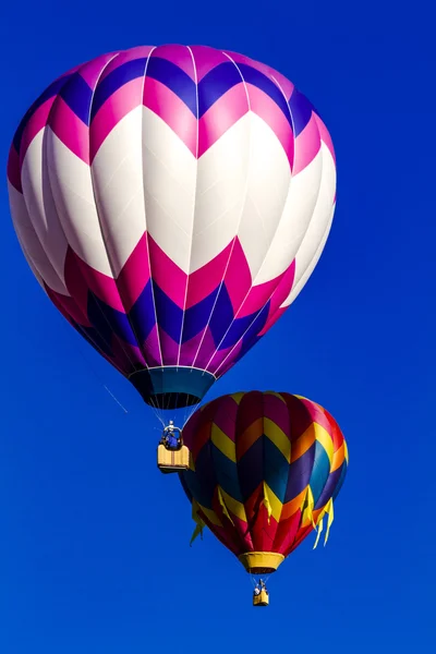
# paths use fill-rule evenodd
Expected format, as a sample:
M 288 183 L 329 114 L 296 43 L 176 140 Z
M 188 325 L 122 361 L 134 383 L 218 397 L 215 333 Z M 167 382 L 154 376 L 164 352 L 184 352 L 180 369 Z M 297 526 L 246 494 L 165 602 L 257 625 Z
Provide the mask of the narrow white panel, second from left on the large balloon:
M 47 131 L 40 130 L 28 146 L 22 165 L 21 181 L 28 218 L 41 249 L 63 282 L 68 244 L 51 192 L 49 166 L 44 152 L 47 135 Z M 21 218 L 25 221 L 22 213 Z

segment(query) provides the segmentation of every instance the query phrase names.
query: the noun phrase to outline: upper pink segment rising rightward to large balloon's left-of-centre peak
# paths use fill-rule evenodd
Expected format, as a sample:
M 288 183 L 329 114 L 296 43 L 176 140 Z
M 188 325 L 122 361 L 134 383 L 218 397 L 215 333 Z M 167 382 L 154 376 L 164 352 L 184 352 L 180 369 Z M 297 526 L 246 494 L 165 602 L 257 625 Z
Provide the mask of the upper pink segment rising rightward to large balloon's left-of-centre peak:
M 90 161 L 120 120 L 141 105 L 142 90 L 143 77 L 132 80 L 116 90 L 98 110 L 89 129 Z

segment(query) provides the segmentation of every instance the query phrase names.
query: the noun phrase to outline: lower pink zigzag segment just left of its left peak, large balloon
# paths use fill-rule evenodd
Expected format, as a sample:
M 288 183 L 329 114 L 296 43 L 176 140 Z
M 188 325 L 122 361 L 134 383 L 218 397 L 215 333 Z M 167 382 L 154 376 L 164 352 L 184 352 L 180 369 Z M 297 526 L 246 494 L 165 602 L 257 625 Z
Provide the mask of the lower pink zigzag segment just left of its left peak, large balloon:
M 141 237 L 134 251 L 125 262 L 117 279 L 122 303 L 126 313 L 130 312 L 149 280 L 149 262 L 147 234 Z

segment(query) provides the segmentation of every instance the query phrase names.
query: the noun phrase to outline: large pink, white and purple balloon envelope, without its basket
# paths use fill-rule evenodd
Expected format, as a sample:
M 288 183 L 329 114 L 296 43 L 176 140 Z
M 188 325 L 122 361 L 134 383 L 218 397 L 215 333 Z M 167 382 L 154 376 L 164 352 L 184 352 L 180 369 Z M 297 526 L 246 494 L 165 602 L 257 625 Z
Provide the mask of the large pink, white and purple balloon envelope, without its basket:
M 13 223 L 66 320 L 156 410 L 195 407 L 301 291 L 336 202 L 330 136 L 272 69 L 207 47 L 78 65 L 25 113 Z

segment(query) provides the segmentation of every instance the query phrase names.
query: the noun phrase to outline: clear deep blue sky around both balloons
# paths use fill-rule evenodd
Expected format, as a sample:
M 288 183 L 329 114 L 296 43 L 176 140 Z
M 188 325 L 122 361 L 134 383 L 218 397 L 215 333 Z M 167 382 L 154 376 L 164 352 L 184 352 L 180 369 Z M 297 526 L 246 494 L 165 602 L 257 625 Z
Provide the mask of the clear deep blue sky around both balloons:
M 322 261 L 209 397 L 286 390 L 324 404 L 350 447 L 328 546 L 271 578 L 269 609 L 159 474 L 153 413 L 59 316 L 22 258 L 0 187 L 2 654 L 431 651 L 436 528 L 435 52 L 429 2 L 147 3 L 0 10 L 9 143 L 56 76 L 143 44 L 241 51 L 319 108 L 338 158 Z M 124 414 L 104 388 L 128 408 Z

